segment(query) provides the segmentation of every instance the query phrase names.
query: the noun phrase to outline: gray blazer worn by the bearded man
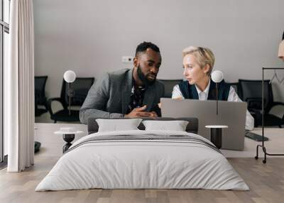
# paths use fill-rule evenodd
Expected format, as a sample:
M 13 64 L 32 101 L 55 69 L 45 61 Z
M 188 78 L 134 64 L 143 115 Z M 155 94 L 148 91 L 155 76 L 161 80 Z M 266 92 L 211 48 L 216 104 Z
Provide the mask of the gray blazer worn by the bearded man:
M 91 117 L 119 118 L 127 113 L 132 89 L 132 72 L 133 69 L 110 72 L 94 82 L 80 109 L 82 124 L 87 124 Z M 165 87 L 158 79 L 146 89 L 143 99 L 143 104 L 147 105 L 146 111 L 153 111 L 164 92 Z

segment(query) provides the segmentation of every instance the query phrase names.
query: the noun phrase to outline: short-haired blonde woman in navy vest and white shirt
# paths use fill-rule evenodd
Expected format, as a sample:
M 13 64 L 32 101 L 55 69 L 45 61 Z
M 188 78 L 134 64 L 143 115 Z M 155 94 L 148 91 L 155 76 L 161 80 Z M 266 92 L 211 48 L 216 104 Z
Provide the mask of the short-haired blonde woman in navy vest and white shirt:
M 183 75 L 185 81 L 173 88 L 173 99 L 216 99 L 216 84 L 210 75 L 214 67 L 215 57 L 209 48 L 192 47 L 182 51 Z M 241 101 L 233 87 L 224 80 L 219 83 L 218 98 L 224 101 Z M 246 111 L 246 129 L 253 129 L 254 119 Z

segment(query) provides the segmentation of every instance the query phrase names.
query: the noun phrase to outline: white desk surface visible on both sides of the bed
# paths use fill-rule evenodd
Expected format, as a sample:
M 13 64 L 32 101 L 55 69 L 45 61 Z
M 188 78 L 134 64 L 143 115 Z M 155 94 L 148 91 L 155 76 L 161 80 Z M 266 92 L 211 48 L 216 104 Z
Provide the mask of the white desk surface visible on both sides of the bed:
M 82 136 L 87 135 L 87 126 L 83 124 L 35 123 L 35 127 L 35 141 L 39 141 L 41 143 L 40 152 L 35 154 L 36 157 L 59 158 L 62 155 L 62 146 L 65 145 L 65 141 L 63 141 L 62 136 L 54 134 L 54 132 L 58 131 L 60 127 L 73 127 L 77 130 L 84 131 L 84 133 L 75 136 L 75 141 Z M 256 128 L 253 133 L 261 135 L 261 128 Z M 265 136 L 270 139 L 265 143 L 268 153 L 284 153 L 284 128 L 265 128 Z M 256 145 L 259 143 L 261 142 L 245 138 L 243 151 L 222 150 L 222 153 L 228 158 L 254 158 L 256 155 Z M 263 157 L 262 150 L 259 157 Z

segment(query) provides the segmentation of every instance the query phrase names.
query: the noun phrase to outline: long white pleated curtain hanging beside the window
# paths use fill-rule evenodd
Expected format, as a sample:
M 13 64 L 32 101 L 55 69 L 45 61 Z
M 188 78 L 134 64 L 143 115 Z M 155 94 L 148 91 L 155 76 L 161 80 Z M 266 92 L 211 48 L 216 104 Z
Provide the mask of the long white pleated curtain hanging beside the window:
M 9 67 L 4 79 L 4 128 L 8 133 L 9 172 L 20 172 L 34 160 L 33 1 L 11 0 Z

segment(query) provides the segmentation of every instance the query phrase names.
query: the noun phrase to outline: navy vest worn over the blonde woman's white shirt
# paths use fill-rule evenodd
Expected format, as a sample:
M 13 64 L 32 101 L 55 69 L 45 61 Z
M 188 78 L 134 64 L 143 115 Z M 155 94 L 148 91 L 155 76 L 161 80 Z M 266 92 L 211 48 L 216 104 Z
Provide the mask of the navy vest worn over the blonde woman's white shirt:
M 199 99 L 195 84 L 189 84 L 188 81 L 182 81 L 178 84 L 180 92 L 185 99 Z M 224 79 L 218 84 L 218 99 L 227 101 L 229 97 L 230 85 L 224 82 Z M 207 100 L 216 100 L 216 83 L 210 80 L 210 87 Z

